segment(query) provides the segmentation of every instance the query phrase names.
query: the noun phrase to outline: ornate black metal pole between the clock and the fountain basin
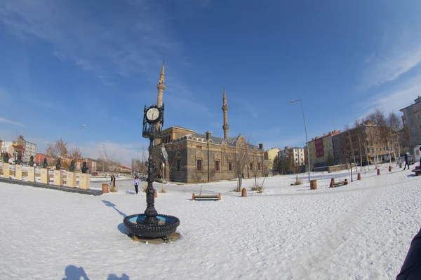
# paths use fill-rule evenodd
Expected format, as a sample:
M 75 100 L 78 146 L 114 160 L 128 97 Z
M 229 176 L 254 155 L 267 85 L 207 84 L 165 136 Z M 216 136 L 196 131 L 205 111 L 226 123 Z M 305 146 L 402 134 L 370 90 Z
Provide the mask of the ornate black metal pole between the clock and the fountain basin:
M 154 186 L 154 174 L 153 167 L 154 162 L 152 160 L 152 153 L 154 152 L 154 138 L 149 138 L 149 158 L 147 159 L 147 188 L 146 188 L 146 210 L 145 210 L 145 223 L 155 224 L 159 222 L 159 218 L 156 218 L 158 212 L 155 209 L 155 191 Z

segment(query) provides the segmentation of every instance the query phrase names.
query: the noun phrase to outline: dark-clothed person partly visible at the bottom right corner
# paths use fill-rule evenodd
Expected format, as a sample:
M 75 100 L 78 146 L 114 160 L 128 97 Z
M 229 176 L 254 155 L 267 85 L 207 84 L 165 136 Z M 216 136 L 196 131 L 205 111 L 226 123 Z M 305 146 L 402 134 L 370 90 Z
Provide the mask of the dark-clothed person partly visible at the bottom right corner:
M 417 280 L 421 279 L 421 229 L 410 242 L 408 254 L 406 255 L 401 272 L 396 280 Z

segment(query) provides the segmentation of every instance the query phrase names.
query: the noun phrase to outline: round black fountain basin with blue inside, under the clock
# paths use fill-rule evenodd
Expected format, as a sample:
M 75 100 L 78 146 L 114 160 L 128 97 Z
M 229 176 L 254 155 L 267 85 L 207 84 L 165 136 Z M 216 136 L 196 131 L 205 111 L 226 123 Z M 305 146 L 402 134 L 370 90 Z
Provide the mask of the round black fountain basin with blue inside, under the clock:
M 174 216 L 158 214 L 156 224 L 145 223 L 145 218 L 145 214 L 133 214 L 124 218 L 123 223 L 132 235 L 138 237 L 168 237 L 180 225 L 180 220 Z

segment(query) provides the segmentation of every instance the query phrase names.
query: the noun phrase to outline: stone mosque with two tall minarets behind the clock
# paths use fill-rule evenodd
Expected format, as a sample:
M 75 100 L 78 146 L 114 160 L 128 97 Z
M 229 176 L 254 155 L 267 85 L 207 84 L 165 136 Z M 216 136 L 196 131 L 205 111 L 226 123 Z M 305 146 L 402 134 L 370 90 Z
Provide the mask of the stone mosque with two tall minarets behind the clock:
M 165 64 L 159 77 L 157 105 L 162 106 L 165 85 Z M 171 104 L 166 104 L 166 108 Z M 215 137 L 212 132 L 196 133 L 184 127 L 168 127 L 162 132 L 162 139 L 156 139 L 154 151 L 159 153 L 162 145 L 168 160 L 156 160 L 159 174 L 166 181 L 194 183 L 235 179 L 243 169 L 243 178 L 267 176 L 269 160 L 263 144 L 248 144 L 240 135 L 229 137 L 228 104 L 225 88 L 222 97 L 224 137 Z M 155 154 L 155 153 L 154 153 Z M 157 157 L 154 157 L 155 159 Z M 241 168 L 242 167 L 242 168 Z

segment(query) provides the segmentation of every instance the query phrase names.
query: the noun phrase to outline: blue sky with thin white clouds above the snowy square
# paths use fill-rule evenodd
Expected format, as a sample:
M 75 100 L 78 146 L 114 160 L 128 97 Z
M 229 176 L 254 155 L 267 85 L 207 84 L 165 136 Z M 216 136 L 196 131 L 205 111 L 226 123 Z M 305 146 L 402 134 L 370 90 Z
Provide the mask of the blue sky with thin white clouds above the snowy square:
M 421 95 L 421 1 L 3 0 L 0 139 L 137 158 L 166 60 L 164 127 L 304 146 Z M 82 125 L 86 125 L 81 129 Z

